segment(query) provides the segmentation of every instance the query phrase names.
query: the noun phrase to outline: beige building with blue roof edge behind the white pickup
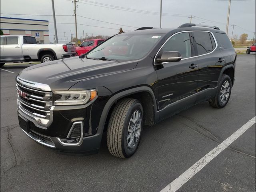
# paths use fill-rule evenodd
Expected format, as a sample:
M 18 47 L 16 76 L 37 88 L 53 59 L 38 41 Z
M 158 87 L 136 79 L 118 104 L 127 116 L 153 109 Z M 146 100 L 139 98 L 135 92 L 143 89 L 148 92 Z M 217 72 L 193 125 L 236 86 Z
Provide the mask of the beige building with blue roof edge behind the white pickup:
M 50 43 L 49 21 L 23 18 L 1 17 L 4 35 L 28 35 L 36 37 L 38 43 Z

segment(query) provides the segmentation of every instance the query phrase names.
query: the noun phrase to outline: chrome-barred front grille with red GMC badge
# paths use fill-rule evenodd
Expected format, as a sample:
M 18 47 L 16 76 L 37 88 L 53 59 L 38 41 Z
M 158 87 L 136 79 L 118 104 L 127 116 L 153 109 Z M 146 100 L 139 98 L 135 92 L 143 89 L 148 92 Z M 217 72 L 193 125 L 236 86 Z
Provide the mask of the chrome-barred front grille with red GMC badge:
M 16 82 L 18 104 L 27 114 L 39 118 L 50 119 L 52 107 L 52 92 L 26 87 L 22 82 Z

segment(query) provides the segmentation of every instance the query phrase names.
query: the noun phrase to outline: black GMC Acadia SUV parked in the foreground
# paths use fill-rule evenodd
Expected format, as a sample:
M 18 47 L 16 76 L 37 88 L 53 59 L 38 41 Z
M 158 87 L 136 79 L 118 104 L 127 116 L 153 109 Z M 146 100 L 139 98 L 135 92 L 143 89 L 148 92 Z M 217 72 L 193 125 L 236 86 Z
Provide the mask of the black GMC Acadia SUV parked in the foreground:
M 203 101 L 224 107 L 236 52 L 215 26 L 139 28 L 86 54 L 28 67 L 16 77 L 18 119 L 36 142 L 66 154 L 136 152 L 143 125 Z

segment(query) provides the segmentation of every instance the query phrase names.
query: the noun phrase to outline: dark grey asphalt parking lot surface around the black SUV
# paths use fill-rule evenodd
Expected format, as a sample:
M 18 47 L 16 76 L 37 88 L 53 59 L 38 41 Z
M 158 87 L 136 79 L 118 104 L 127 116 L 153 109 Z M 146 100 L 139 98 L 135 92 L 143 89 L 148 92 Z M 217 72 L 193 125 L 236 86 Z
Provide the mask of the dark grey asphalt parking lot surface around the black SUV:
M 255 54 L 238 55 L 236 80 L 225 108 L 208 102 L 145 127 L 129 159 L 112 156 L 102 139 L 92 156 L 56 154 L 18 126 L 15 77 L 1 68 L 1 191 L 160 191 L 255 116 Z M 6 71 L 7 70 L 7 71 Z M 188 180 L 178 192 L 254 192 L 255 124 Z

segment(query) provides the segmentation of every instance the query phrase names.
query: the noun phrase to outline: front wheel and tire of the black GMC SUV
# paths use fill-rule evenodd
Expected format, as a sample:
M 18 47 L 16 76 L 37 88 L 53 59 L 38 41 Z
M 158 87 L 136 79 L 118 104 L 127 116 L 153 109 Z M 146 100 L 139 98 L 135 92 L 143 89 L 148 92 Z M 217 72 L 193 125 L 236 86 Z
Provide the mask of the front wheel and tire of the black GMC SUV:
M 116 157 L 129 158 L 138 148 L 142 130 L 143 108 L 140 102 L 131 98 L 120 100 L 114 107 L 108 123 L 109 152 Z

